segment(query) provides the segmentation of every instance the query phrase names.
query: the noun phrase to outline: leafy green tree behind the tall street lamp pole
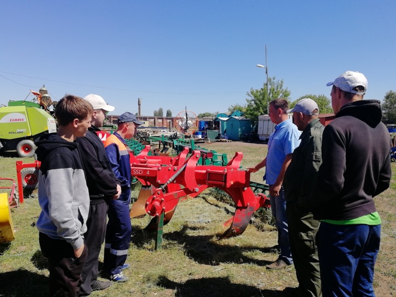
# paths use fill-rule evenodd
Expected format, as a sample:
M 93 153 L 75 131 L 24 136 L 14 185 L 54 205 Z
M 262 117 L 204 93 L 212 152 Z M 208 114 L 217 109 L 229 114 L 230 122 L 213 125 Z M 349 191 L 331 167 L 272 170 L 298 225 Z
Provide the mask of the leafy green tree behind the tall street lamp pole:
M 288 88 L 283 87 L 283 80 L 275 81 L 275 76 L 269 77 L 268 87 L 268 103 L 277 98 L 286 99 L 288 102 L 290 101 L 291 92 L 288 90 Z M 250 119 L 252 125 L 255 127 L 255 130 L 257 130 L 258 116 L 262 114 L 268 114 L 266 83 L 263 84 L 261 89 L 255 90 L 251 88 L 250 92 L 247 92 L 246 95 L 249 98 L 246 99 L 247 104 L 245 106 L 245 116 Z

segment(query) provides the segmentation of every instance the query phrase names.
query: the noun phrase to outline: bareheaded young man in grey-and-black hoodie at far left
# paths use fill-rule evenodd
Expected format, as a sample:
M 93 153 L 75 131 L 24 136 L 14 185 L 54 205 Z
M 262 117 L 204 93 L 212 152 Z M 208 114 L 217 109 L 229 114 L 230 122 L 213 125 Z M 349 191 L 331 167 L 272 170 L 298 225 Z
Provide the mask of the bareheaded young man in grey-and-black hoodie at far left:
M 49 295 L 79 294 L 81 272 L 88 255 L 84 244 L 90 205 L 77 137 L 91 126 L 92 105 L 66 95 L 59 100 L 55 117 L 57 133 L 36 140 L 39 173 L 39 204 L 42 208 L 37 229 L 40 248 L 49 262 Z

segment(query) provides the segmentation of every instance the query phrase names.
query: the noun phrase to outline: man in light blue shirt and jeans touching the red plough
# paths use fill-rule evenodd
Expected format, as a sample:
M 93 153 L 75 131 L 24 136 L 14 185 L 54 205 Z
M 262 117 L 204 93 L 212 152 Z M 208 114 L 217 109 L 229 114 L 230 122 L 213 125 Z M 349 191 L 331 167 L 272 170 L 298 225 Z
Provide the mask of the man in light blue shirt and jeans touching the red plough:
M 286 219 L 285 191 L 282 184 L 286 169 L 292 160 L 292 153 L 299 145 L 300 132 L 289 119 L 288 109 L 289 103 L 285 99 L 279 98 L 270 102 L 269 116 L 276 126 L 275 132 L 271 134 L 268 141 L 267 156 L 256 166 L 247 168 L 249 172 L 256 172 L 260 168 L 266 167 L 263 179 L 269 185 L 271 211 L 276 220 L 278 245 L 281 249 L 278 259 L 268 265 L 267 269 L 282 269 L 293 264 Z

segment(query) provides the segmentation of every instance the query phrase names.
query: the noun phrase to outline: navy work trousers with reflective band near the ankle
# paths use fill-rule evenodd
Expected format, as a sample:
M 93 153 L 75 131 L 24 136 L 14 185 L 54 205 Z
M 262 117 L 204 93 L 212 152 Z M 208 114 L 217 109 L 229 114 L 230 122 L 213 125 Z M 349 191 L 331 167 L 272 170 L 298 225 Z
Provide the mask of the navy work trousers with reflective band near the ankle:
M 111 199 L 108 208 L 108 223 L 104 244 L 104 271 L 108 275 L 121 272 L 128 255 L 132 226 L 129 217 L 131 192 L 125 191 L 117 200 Z

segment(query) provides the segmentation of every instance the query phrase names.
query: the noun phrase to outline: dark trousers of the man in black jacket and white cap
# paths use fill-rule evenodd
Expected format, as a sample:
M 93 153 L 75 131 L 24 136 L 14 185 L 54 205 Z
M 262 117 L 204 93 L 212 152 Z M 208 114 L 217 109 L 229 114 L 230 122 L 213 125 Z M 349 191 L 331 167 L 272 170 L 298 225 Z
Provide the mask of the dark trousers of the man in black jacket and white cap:
M 84 234 L 89 252 L 83 268 L 83 284 L 81 285 L 79 296 L 90 295 L 92 293 L 91 286 L 98 280 L 99 253 L 106 233 L 107 209 L 108 205 L 106 202 L 90 205 L 87 232 Z

